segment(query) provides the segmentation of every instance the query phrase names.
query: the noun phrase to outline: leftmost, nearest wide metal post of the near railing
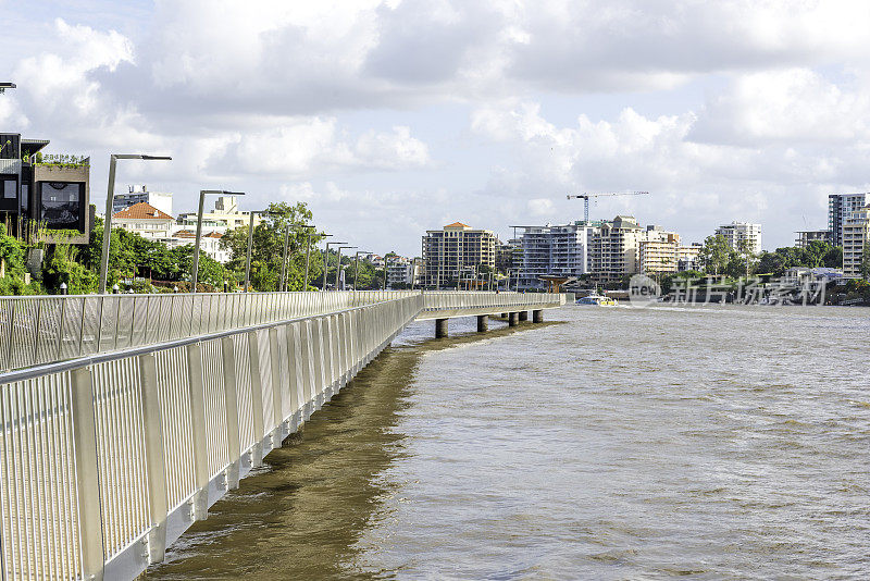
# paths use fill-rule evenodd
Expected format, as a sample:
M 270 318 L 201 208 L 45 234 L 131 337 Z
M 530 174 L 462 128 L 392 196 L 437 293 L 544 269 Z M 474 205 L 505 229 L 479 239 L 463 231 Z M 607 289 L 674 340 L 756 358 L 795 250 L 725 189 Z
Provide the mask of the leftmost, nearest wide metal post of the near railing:
M 102 579 L 104 556 L 100 482 L 97 472 L 97 427 L 94 419 L 94 390 L 90 367 L 70 372 L 72 387 L 73 442 L 75 443 L 78 527 L 82 537 L 82 573 L 85 579 Z

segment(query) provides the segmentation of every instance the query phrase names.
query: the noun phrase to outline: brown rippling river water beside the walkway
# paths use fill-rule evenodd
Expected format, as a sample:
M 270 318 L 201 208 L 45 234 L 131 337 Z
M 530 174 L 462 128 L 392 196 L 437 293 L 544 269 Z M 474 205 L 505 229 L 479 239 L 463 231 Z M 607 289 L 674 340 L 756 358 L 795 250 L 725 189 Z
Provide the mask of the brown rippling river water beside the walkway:
M 868 579 L 870 312 L 413 323 L 147 579 Z

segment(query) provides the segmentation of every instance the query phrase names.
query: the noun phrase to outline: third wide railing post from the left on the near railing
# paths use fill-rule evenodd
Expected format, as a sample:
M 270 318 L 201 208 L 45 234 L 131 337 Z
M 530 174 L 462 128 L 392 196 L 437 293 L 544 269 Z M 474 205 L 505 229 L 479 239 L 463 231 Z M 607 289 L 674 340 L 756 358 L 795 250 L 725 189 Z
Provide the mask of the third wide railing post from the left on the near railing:
M 190 435 L 194 444 L 194 520 L 209 517 L 209 456 L 206 435 L 206 385 L 202 372 L 202 345 L 187 346 L 187 381 L 190 388 Z

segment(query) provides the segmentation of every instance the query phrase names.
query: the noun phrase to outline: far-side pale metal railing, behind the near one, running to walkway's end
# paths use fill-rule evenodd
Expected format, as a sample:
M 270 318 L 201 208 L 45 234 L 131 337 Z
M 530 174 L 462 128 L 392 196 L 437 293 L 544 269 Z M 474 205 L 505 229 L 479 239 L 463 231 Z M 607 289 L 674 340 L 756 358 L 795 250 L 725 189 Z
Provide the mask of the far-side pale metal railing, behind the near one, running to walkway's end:
M 0 370 L 325 314 L 420 290 L 80 295 L 0 298 Z M 481 307 L 559 306 L 560 295 L 425 292 L 423 318 Z M 563 301 L 562 301 L 563 304 Z

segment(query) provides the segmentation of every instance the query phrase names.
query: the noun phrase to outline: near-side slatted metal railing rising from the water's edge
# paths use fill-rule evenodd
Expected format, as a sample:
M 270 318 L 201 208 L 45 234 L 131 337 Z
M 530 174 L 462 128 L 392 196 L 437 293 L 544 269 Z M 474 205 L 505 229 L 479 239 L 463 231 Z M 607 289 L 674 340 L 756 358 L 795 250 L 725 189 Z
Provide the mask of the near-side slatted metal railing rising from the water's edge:
M 422 307 L 410 293 L 0 375 L 2 578 L 162 560 Z

